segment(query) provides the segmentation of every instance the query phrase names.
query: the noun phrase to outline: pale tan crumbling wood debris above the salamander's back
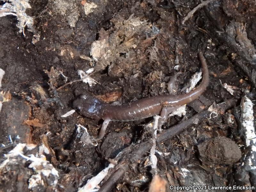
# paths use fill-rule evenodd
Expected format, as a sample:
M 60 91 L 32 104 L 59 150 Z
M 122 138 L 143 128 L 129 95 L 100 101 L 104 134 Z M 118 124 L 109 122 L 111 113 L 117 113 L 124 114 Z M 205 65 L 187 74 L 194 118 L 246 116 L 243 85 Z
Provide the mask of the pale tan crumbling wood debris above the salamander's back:
M 115 76 L 117 74 L 123 76 L 123 70 L 131 74 L 131 64 L 135 59 L 134 57 L 136 57 L 133 49 L 140 42 L 137 38 L 134 38 L 134 35 L 152 29 L 146 20 L 133 17 L 133 15 L 127 20 L 119 16 L 111 21 L 115 25 L 115 31 L 101 29 L 99 40 L 94 41 L 91 46 L 91 56 L 97 61 L 95 71 L 110 65 L 109 75 L 113 73 Z M 124 57 L 122 54 L 124 54 Z

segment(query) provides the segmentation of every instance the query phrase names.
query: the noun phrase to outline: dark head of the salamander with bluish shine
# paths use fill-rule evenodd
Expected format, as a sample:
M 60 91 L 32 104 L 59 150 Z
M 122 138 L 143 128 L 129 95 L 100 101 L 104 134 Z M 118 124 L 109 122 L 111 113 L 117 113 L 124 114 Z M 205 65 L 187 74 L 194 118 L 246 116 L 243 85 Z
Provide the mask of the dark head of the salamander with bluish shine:
M 101 119 L 100 109 L 102 105 L 103 102 L 99 99 L 87 95 L 82 95 L 73 102 L 73 108 L 75 108 L 78 113 L 93 119 Z

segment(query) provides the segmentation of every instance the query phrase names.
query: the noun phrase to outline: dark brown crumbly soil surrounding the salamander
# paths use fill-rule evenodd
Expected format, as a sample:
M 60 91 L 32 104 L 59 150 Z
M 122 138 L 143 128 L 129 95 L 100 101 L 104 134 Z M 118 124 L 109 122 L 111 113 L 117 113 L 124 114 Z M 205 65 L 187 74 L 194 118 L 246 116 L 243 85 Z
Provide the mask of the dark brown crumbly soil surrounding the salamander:
M 84 130 L 78 132 L 77 125 L 83 125 L 96 137 L 102 121 L 76 112 L 66 118 L 61 116 L 82 94 L 119 104 L 168 94 L 167 83 L 178 71 L 176 91 L 182 94 L 181 89 L 200 70 L 199 51 L 204 53 L 210 71 L 208 88 L 202 97 L 187 105 L 185 116 L 170 117 L 163 129 L 170 129 L 213 103 L 225 104 L 217 117 L 204 118 L 172 140 L 157 144 L 157 150 L 167 154 L 156 155 L 158 173 L 168 181 L 167 186 L 187 184 L 179 175 L 182 168 L 192 172 L 192 178 L 204 178 L 205 185 L 236 184 L 234 175 L 246 150 L 235 117 L 240 114 L 242 96 L 250 92 L 255 100 L 254 1 L 215 1 L 198 9 L 184 25 L 183 18 L 201 1 L 91 1 L 97 8 L 88 15 L 82 5 L 85 2 L 31 0 L 27 14 L 35 18 L 36 32 L 25 28 L 26 36 L 19 33 L 15 16 L 0 17 L 0 68 L 5 71 L 0 91 L 11 94 L 0 112 L 0 164 L 16 143 L 37 145 L 34 153 L 24 151 L 26 156 L 36 154 L 43 143 L 50 150 L 46 159 L 59 172 L 54 187 L 52 181 L 45 181 L 40 188 L 28 189 L 34 173 L 28 167 L 29 161 L 17 157 L 19 164 L 0 166 L 0 191 L 77 191 L 120 151 L 150 140 L 151 130 L 146 124 L 153 123 L 153 118 L 110 122 L 105 138 L 94 146 L 83 142 Z M 69 6 L 66 14 L 58 11 L 60 4 Z M 71 13 L 78 15 L 74 27 L 70 27 Z M 33 44 L 35 33 L 40 38 Z M 92 58 L 90 51 L 95 42 L 105 42 L 106 46 L 101 53 L 95 53 L 98 61 L 82 59 Z M 178 71 L 174 69 L 177 65 Z M 78 81 L 58 89 L 79 80 L 78 70 L 90 68 L 94 68 L 90 77 L 99 83 L 89 86 Z M 60 73 L 68 78 L 67 82 Z M 238 89 L 231 95 L 221 83 Z M 126 172 L 112 190 L 147 191 L 153 177 L 148 160 L 145 151 L 137 166 Z M 248 177 L 243 182 L 251 186 Z

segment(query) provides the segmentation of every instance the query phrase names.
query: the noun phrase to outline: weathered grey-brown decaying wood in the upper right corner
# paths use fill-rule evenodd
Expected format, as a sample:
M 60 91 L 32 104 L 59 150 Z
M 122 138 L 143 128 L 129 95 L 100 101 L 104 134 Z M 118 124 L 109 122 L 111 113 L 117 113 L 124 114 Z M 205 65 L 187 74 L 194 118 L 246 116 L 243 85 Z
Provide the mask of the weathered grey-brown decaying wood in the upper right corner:
M 214 38 L 217 38 L 234 51 L 239 57 L 236 58 L 235 64 L 243 69 L 256 87 L 256 48 L 251 40 L 247 37 L 246 25 L 238 21 L 230 21 L 228 26 L 222 26 L 220 18 L 223 14 L 220 8 L 214 5 L 205 7 L 205 12 L 212 22 L 210 31 L 213 31 Z

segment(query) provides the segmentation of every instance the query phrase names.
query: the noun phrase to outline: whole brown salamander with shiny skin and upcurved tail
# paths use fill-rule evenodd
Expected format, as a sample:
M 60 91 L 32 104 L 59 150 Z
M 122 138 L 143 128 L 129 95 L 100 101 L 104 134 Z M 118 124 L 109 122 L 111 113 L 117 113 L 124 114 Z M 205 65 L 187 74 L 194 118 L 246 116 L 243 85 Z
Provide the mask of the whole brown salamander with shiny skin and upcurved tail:
M 162 126 L 167 116 L 180 106 L 196 100 L 206 89 L 209 82 L 209 72 L 203 53 L 199 53 L 202 64 L 203 80 L 193 91 L 180 95 L 158 95 L 127 103 L 124 105 L 111 105 L 92 96 L 83 95 L 73 102 L 73 107 L 83 116 L 93 119 L 103 119 L 99 139 L 105 135 L 110 121 L 134 121 L 161 114 Z

